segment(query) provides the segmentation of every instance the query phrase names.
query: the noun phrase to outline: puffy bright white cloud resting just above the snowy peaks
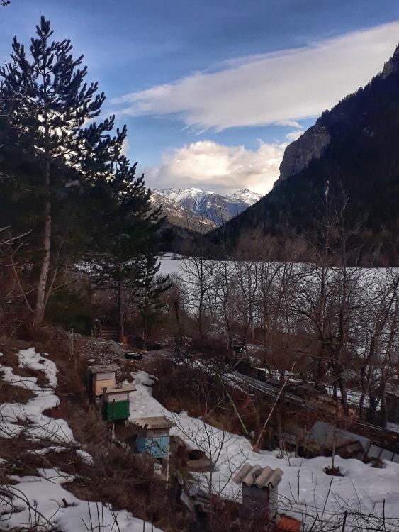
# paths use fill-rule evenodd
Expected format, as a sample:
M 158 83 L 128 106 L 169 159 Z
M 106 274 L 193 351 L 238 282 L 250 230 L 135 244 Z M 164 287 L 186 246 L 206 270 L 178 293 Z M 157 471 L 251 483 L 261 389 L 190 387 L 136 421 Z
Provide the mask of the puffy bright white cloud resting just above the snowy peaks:
M 201 140 L 164 153 L 159 166 L 145 168 L 152 188 L 197 187 L 213 192 L 248 188 L 266 194 L 279 177 L 279 165 L 288 143 L 266 144 L 257 150 Z

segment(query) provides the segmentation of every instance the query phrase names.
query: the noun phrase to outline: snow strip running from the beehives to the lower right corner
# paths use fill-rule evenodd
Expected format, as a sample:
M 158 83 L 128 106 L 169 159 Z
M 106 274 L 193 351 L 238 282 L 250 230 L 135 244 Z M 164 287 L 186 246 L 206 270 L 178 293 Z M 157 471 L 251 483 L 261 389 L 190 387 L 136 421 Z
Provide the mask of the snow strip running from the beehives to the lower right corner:
M 296 457 L 278 458 L 279 451 L 254 453 L 249 440 L 243 436 L 220 431 L 218 428 L 192 418 L 185 412 L 172 414 L 152 397 L 153 379 L 145 372 L 135 375 L 136 391 L 130 394 L 130 420 L 145 416 L 167 416 L 176 423 L 172 433 L 180 436 L 191 448 L 201 448 L 214 462 L 215 471 L 198 475 L 203 485 L 212 483 L 213 492 L 223 497 L 240 497 L 240 490 L 232 482 L 232 475 L 244 463 L 281 467 L 283 479 L 279 484 L 279 509 L 297 519 L 301 515 L 322 516 L 323 521 L 342 519 L 347 510 L 349 530 L 350 514 L 361 511 L 364 514 L 399 518 L 399 465 L 384 462 L 382 469 L 371 467 L 355 459 L 344 460 L 335 457 L 342 477 L 331 477 L 323 472 L 331 465 L 331 458 L 303 459 Z M 321 519 L 321 517 L 320 517 Z M 399 521 L 387 519 L 387 530 L 398 530 Z M 390 527 L 390 528 L 389 528 Z M 357 528 L 356 530 L 359 530 Z M 366 528 L 365 528 L 366 530 Z

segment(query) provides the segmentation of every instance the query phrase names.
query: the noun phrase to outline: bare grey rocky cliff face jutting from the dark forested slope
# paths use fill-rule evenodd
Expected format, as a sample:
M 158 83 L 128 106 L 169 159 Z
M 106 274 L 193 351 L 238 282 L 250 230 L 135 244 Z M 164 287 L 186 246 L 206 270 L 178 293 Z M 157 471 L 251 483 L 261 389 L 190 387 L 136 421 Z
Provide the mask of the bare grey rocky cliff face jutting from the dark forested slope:
M 327 128 L 315 123 L 286 147 L 280 165 L 279 179 L 285 181 L 291 175 L 298 174 L 307 167 L 312 159 L 320 159 L 326 146 L 330 144 L 330 140 L 331 135 Z

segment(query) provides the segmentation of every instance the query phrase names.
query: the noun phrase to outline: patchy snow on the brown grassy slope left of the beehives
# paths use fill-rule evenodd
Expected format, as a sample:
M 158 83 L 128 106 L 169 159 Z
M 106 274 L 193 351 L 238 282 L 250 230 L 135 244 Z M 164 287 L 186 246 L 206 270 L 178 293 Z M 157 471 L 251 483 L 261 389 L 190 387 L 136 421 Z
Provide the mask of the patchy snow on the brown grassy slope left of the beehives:
M 62 452 L 65 450 L 64 445 L 69 445 L 69 448 L 71 445 L 79 446 L 67 421 L 52 419 L 43 414 L 43 411 L 59 402 L 54 393 L 57 387 L 55 363 L 47 356 L 36 353 L 35 348 L 21 350 L 18 362 L 19 367 L 30 367 L 43 372 L 47 383 L 40 386 L 36 377 L 20 377 L 15 375 L 11 367 L 0 364 L 3 381 L 25 387 L 34 394 L 27 404 L 0 404 L 0 436 L 16 438 L 23 433 L 36 444 L 42 439 L 50 439 L 59 444 L 30 451 L 38 454 Z M 91 465 L 89 453 L 80 448 L 76 452 L 82 461 Z M 28 462 L 29 453 L 20 459 Z M 7 465 L 6 457 L 1 456 L 1 448 L 0 464 L 4 467 Z M 72 482 L 74 477 L 60 470 L 39 469 L 37 475 L 13 475 L 11 480 L 13 484 L 0 484 L 0 530 L 162 532 L 151 523 L 144 523 L 133 517 L 128 511 L 113 511 L 110 505 L 77 499 L 62 485 Z

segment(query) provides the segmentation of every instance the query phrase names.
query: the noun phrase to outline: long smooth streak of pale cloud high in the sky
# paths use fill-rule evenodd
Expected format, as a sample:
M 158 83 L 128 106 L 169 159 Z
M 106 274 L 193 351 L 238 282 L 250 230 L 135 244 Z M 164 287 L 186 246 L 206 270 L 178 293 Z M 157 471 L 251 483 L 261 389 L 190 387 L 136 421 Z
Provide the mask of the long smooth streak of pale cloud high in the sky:
M 217 72 L 195 72 L 113 100 L 119 113 L 179 116 L 187 126 L 221 131 L 269 123 L 297 126 L 380 71 L 398 44 L 399 21 L 304 48 L 239 57 Z

